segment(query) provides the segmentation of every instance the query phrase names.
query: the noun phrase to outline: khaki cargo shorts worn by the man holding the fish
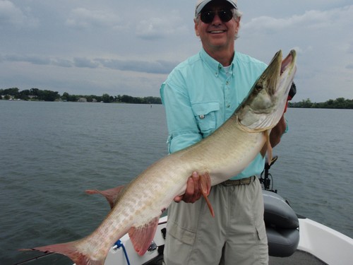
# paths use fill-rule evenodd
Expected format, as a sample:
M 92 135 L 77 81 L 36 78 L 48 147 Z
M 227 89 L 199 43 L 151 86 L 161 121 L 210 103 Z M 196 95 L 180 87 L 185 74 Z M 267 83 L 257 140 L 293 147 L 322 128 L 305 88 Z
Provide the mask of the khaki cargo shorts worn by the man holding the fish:
M 205 199 L 172 203 L 168 209 L 165 265 L 268 264 L 263 195 L 250 184 L 212 187 L 210 215 Z

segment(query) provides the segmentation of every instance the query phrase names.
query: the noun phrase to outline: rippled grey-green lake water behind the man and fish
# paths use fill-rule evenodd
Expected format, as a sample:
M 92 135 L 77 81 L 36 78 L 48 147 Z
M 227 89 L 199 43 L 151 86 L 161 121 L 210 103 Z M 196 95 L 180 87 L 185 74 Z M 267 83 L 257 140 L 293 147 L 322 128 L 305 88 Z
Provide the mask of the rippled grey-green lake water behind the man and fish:
M 353 237 L 353 111 L 289 109 L 287 119 L 274 188 L 297 213 Z M 85 189 L 126 184 L 167 154 L 162 105 L 0 100 L 0 139 L 0 264 L 40 255 L 16 249 L 88 235 L 109 206 Z

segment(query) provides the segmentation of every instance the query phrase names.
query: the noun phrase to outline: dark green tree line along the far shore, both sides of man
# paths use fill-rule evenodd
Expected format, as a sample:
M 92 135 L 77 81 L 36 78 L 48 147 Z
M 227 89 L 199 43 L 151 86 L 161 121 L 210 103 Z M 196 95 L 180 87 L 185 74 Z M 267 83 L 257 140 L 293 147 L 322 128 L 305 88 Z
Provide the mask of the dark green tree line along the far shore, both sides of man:
M 131 95 L 70 95 L 64 93 L 59 95 L 52 90 L 41 90 L 31 88 L 29 90 L 19 90 L 18 88 L 0 89 L 0 100 L 41 100 L 41 101 L 71 101 L 71 102 L 124 102 L 133 104 L 162 104 L 162 100 L 157 97 L 132 97 Z M 325 102 L 311 102 L 309 98 L 300 102 L 289 102 L 288 107 L 321 108 L 321 109 L 353 109 L 353 100 L 336 98 Z

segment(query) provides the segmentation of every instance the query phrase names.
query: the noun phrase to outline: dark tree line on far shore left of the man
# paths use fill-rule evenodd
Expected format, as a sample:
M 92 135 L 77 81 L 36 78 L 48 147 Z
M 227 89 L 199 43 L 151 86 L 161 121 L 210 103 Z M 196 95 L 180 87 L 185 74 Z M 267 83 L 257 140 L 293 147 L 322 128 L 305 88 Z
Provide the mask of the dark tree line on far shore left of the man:
M 124 102 L 133 104 L 162 104 L 157 97 L 132 97 L 131 95 L 70 95 L 67 92 L 59 95 L 57 91 L 31 88 L 19 90 L 18 88 L 0 89 L 0 100 L 38 100 L 38 101 L 71 101 L 71 102 Z

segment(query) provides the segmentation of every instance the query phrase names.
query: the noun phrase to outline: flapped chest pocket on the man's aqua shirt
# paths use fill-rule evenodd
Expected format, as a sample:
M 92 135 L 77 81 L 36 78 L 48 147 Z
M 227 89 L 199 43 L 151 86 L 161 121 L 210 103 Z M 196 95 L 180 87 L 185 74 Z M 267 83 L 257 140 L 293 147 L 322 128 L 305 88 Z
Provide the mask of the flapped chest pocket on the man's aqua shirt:
M 191 107 L 203 137 L 215 131 L 217 126 L 217 111 L 220 110 L 220 103 L 198 102 L 192 104 Z

